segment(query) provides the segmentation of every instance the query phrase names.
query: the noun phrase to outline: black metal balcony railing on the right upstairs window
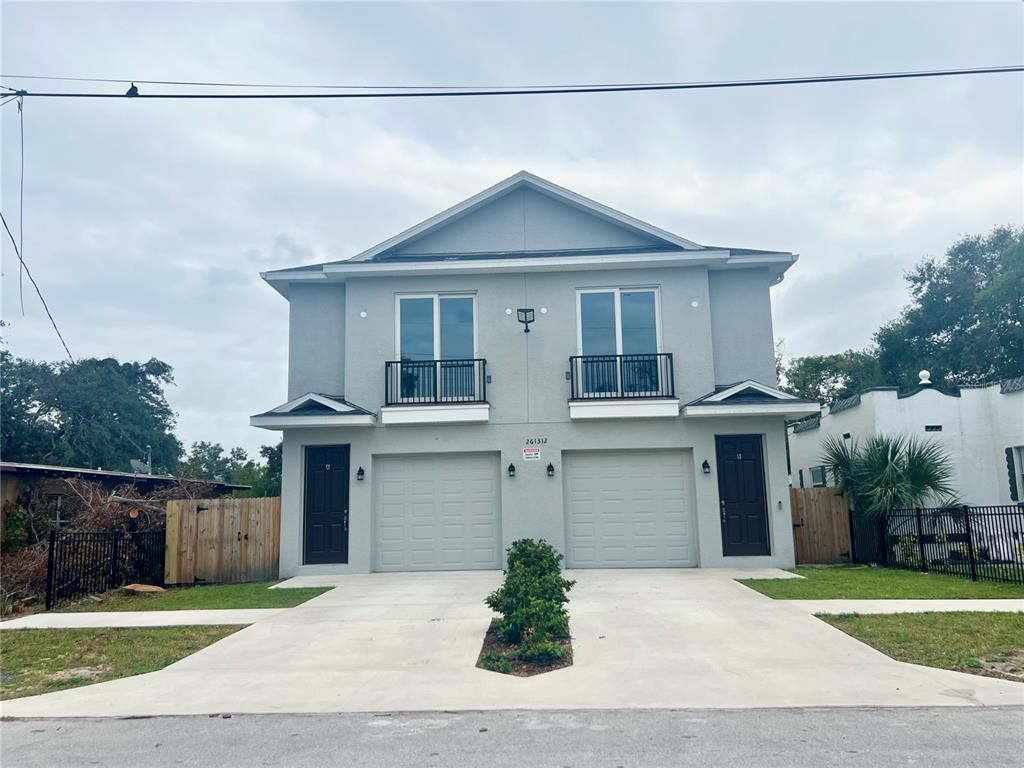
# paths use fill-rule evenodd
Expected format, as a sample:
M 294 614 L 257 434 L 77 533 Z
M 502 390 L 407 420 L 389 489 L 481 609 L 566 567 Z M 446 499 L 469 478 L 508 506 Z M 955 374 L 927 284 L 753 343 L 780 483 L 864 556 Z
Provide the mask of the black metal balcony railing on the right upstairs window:
M 573 355 L 569 381 L 573 400 L 676 396 L 671 352 Z

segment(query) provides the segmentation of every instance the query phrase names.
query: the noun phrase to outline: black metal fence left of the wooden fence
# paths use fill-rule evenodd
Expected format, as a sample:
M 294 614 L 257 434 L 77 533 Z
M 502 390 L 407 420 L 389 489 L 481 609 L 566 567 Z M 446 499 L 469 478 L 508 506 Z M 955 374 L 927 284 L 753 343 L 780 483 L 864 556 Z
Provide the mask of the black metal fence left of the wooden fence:
M 165 531 L 50 531 L 46 609 L 125 584 L 164 584 Z

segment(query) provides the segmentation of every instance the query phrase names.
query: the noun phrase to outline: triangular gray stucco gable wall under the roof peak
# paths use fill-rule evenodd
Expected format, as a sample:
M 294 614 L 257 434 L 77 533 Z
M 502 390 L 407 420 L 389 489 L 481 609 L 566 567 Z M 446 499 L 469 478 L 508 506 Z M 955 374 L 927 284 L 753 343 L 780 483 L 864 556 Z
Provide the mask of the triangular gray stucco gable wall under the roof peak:
M 479 253 L 650 246 L 652 238 L 534 189 L 514 189 L 395 253 Z

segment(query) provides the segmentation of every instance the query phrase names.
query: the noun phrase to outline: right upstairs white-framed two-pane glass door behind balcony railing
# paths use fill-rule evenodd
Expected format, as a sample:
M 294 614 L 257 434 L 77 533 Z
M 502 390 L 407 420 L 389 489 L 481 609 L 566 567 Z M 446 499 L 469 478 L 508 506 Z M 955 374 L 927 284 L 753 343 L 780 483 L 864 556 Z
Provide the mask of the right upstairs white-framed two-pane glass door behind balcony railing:
M 585 397 L 640 397 L 660 391 L 657 292 L 581 291 L 580 359 Z

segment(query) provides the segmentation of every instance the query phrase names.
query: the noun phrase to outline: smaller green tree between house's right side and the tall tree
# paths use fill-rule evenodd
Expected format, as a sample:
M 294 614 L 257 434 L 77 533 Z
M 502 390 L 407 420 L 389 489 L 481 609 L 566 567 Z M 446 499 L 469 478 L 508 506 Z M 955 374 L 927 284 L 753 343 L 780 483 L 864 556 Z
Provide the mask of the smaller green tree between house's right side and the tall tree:
M 879 358 L 856 349 L 795 357 L 783 367 L 783 376 L 788 391 L 819 402 L 835 402 L 885 383 Z

